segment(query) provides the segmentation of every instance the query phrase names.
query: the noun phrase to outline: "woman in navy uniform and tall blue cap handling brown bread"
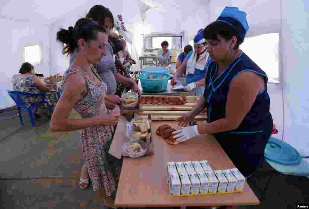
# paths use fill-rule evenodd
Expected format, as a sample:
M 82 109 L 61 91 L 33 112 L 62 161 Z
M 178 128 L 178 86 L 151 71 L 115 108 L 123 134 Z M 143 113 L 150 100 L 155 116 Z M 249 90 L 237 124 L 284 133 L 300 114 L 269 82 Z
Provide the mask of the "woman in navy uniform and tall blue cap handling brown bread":
M 208 123 L 173 133 L 178 142 L 198 134 L 213 134 L 245 177 L 260 167 L 273 128 L 267 75 L 239 49 L 248 28 L 246 13 L 225 7 L 204 29 L 211 58 L 204 97 L 179 118 L 179 124 L 188 124 L 205 107 Z

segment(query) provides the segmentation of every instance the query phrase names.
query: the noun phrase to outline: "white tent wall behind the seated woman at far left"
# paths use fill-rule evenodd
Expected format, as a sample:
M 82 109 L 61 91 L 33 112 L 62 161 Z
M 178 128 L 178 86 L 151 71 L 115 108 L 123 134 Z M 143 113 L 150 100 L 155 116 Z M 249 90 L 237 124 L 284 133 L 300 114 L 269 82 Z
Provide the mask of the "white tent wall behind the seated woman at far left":
M 42 61 L 35 65 L 35 70 L 37 73 L 49 74 L 49 27 L 4 18 L 0 18 L 0 25 L 5 29 L 1 32 L 1 38 L 5 40 L 1 46 L 2 58 L 5 58 L 0 77 L 1 110 L 15 105 L 6 90 L 12 90 L 12 76 L 19 73 L 25 46 L 42 47 Z

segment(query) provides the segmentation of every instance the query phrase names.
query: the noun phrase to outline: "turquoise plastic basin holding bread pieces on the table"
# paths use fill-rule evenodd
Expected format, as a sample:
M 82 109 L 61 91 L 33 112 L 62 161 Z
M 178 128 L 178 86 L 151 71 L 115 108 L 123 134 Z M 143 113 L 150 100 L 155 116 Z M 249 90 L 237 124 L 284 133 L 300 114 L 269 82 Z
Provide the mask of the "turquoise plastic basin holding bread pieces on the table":
M 153 79 L 149 79 L 149 75 L 153 76 Z M 164 79 L 155 79 L 157 77 L 164 77 Z M 160 92 L 166 90 L 167 82 L 170 78 L 170 75 L 167 73 L 143 73 L 138 75 L 139 80 L 141 81 L 142 88 L 144 91 L 149 92 Z

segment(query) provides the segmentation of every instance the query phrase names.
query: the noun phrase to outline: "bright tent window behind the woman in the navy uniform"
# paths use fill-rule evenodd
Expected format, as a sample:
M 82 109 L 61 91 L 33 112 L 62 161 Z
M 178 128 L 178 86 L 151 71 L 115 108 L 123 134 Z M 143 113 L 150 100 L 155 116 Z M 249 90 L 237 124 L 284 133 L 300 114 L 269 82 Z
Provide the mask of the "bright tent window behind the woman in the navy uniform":
M 279 33 L 245 38 L 240 49 L 267 74 L 269 82 L 279 82 Z

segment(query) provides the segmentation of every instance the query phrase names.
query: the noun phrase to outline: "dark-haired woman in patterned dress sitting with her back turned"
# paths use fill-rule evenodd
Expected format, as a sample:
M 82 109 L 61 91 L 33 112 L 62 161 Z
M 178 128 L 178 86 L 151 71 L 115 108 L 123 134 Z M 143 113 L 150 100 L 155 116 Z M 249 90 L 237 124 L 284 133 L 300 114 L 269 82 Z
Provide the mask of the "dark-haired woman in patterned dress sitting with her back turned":
M 49 92 L 49 89 L 44 85 L 44 82 L 42 82 L 41 79 L 34 74 L 34 66 L 29 62 L 24 62 L 19 69 L 19 74 L 14 75 L 12 78 L 13 90 L 30 94 L 36 94 L 42 91 Z M 28 107 L 34 103 L 42 102 L 40 96 L 23 96 L 22 98 Z M 57 92 L 55 92 L 55 94 L 45 94 L 45 101 L 48 102 L 49 105 L 55 106 L 57 100 Z M 44 110 L 44 108 L 47 108 L 47 104 L 44 104 L 44 106 L 34 110 L 34 115 L 36 118 L 40 117 L 43 112 L 46 112 L 46 109 Z

